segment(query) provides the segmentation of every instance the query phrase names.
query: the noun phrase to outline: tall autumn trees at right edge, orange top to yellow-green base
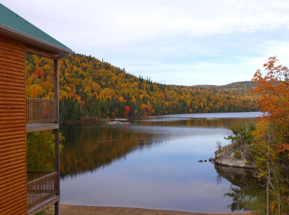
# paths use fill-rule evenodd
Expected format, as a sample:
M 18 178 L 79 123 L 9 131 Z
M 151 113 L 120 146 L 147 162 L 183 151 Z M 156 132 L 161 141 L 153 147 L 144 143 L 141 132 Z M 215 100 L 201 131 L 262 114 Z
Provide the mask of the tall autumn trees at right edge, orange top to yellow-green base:
M 263 65 L 265 75 L 257 70 L 253 81 L 258 85 L 252 91 L 260 95 L 263 112 L 252 145 L 257 177 L 266 181 L 267 215 L 269 208 L 278 214 L 289 212 L 289 71 L 286 66 L 276 66 L 277 61 L 275 56 L 269 58 Z

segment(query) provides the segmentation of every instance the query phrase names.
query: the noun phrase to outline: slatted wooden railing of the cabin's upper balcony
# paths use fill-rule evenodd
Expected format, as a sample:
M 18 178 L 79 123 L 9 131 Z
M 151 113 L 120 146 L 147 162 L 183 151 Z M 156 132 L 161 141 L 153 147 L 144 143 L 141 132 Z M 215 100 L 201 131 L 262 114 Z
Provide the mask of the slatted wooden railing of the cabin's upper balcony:
M 26 98 L 27 124 L 54 123 L 56 117 L 56 99 Z

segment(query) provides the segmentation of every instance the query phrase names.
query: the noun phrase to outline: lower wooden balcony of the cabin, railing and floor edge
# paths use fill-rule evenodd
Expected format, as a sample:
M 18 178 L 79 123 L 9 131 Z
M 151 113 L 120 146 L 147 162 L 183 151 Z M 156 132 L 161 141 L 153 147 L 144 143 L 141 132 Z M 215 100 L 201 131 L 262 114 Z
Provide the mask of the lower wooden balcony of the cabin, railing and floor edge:
M 57 172 L 27 171 L 28 215 L 36 214 L 47 206 L 60 200 L 57 196 Z

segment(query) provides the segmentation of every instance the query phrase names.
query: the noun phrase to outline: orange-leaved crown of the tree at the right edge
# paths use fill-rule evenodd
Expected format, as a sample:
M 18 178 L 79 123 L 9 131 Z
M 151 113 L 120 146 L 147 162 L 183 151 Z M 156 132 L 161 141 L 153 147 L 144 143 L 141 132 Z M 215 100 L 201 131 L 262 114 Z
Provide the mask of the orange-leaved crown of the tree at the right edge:
M 286 66 L 275 66 L 276 56 L 270 57 L 263 65 L 267 74 L 263 77 L 261 70 L 257 70 L 253 81 L 258 85 L 253 90 L 260 94 L 261 111 L 264 119 L 270 121 L 277 128 L 279 135 L 275 135 L 279 150 L 288 154 L 289 151 L 289 70 Z

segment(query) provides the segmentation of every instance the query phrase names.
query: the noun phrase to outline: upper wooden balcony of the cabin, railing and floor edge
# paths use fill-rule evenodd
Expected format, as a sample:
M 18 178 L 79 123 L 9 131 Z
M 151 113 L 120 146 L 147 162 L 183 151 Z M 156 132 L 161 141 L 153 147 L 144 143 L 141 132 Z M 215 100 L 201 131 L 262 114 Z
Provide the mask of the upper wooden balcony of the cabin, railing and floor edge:
M 27 132 L 59 128 L 56 102 L 56 99 L 26 98 Z

